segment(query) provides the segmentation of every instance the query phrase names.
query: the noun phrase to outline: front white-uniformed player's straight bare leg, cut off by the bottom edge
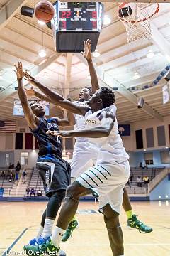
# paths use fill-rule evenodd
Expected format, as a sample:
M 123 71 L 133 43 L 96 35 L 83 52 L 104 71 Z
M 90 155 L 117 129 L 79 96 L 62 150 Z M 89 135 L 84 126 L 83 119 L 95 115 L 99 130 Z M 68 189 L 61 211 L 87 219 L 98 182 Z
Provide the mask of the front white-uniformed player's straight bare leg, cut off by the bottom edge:
M 124 255 L 123 232 L 119 223 L 119 216 L 111 206 L 107 204 L 103 208 L 104 221 L 108 230 L 108 238 L 114 256 Z

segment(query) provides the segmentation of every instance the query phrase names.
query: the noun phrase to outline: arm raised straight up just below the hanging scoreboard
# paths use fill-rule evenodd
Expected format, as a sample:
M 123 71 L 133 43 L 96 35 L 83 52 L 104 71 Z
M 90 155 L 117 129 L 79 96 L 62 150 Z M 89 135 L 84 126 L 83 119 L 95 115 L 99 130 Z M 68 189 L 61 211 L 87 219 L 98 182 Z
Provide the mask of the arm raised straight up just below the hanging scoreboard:
M 81 52 L 81 54 L 84 55 L 84 58 L 86 58 L 87 60 L 91 76 L 91 92 L 94 93 L 96 92 L 96 90 L 99 89 L 99 85 L 96 70 L 94 68 L 94 63 L 91 58 L 91 41 L 89 39 L 87 39 L 87 41 L 84 41 L 84 53 Z

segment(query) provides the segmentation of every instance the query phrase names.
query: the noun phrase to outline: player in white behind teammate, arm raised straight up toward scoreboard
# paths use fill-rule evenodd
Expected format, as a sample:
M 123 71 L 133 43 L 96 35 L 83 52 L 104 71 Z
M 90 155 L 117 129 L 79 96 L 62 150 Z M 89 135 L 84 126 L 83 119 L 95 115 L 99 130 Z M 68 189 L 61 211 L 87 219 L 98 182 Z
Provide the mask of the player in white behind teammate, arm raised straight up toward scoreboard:
M 91 88 L 86 87 L 81 90 L 79 93 L 79 101 L 74 102 L 77 106 L 85 105 L 86 102 L 89 100 L 91 92 L 94 93 L 96 90 L 99 89 L 98 85 L 98 78 L 96 75 L 96 70 L 93 65 L 93 61 L 91 60 L 91 41 L 87 40 L 84 42 L 84 58 L 86 58 L 88 66 L 89 66 L 89 73 L 91 76 Z M 114 105 L 114 110 L 116 112 L 116 107 Z M 115 114 L 114 112 L 114 114 Z M 75 121 L 76 124 L 74 125 L 74 129 L 84 129 L 85 127 L 85 119 L 82 115 L 75 114 Z M 83 157 L 82 157 L 83 156 Z M 72 181 L 74 181 L 79 175 L 81 175 L 86 169 L 89 169 L 96 164 L 97 159 L 97 151 L 94 150 L 94 146 L 89 144 L 88 139 L 84 137 L 76 137 L 76 143 L 74 145 L 74 152 L 72 158 Z M 130 203 L 130 198 L 128 196 L 128 192 L 126 188 L 124 188 L 123 193 L 123 208 L 128 218 L 128 227 L 129 228 L 136 228 L 141 233 L 149 233 L 152 232 L 152 228 L 142 223 L 140 220 L 137 219 L 137 216 L 132 211 L 132 206 Z M 67 228 L 66 233 L 64 234 L 62 241 L 67 241 L 72 236 L 72 232 L 75 228 L 79 225 L 76 218 L 74 218 Z

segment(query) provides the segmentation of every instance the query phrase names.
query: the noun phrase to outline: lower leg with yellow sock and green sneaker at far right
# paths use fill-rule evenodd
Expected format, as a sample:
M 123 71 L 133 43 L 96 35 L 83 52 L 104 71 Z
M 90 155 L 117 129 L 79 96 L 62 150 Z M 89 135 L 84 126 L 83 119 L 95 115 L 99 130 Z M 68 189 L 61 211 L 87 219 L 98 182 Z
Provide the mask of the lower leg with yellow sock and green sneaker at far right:
M 140 233 L 152 232 L 153 229 L 145 225 L 145 223 L 142 223 L 142 221 L 138 220 L 135 213 L 133 213 L 132 206 L 130 203 L 130 198 L 128 196 L 128 192 L 126 188 L 124 188 L 124 193 L 123 193 L 123 209 L 125 210 L 125 213 L 128 218 L 129 228 L 136 228 L 137 230 L 140 231 Z

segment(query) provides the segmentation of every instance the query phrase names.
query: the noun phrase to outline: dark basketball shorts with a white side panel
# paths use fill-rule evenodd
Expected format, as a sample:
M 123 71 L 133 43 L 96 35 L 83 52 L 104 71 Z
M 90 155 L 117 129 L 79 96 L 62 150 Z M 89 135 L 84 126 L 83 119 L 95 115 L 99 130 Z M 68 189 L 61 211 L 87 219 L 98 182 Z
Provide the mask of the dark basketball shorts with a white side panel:
M 70 184 L 71 169 L 69 163 L 62 159 L 37 161 L 37 169 L 42 178 L 46 196 L 60 190 L 66 190 Z

